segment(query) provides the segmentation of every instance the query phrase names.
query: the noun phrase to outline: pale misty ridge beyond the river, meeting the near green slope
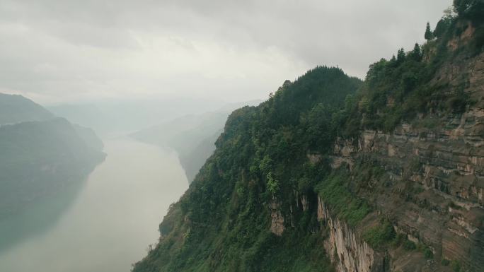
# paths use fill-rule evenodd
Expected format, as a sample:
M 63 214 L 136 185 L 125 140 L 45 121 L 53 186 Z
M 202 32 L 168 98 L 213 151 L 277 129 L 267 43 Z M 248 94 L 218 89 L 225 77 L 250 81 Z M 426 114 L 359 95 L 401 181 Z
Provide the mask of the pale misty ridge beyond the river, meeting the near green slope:
M 224 130 L 230 112 L 243 105 L 259 103 L 259 100 L 233 103 L 216 112 L 186 115 L 142 129 L 131 136 L 145 143 L 175 150 L 188 181 L 192 182 L 205 160 L 214 152 L 214 143 Z

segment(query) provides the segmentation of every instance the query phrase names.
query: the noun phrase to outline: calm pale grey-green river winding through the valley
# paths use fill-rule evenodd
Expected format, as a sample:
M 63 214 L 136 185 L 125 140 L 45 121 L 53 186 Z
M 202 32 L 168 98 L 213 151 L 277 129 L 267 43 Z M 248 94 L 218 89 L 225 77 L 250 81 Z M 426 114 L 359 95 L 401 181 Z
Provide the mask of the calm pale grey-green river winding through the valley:
M 128 272 L 146 255 L 185 172 L 175 153 L 131 139 L 105 153 L 79 187 L 0 223 L 1 272 Z

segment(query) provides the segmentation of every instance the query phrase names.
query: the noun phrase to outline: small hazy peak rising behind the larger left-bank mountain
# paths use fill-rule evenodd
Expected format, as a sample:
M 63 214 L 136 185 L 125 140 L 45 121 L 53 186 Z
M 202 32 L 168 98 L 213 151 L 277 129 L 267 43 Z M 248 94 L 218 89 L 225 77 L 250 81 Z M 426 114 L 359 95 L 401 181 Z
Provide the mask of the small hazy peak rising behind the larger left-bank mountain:
M 54 115 L 48 110 L 22 95 L 0 93 L 0 125 L 41 121 L 52 117 Z

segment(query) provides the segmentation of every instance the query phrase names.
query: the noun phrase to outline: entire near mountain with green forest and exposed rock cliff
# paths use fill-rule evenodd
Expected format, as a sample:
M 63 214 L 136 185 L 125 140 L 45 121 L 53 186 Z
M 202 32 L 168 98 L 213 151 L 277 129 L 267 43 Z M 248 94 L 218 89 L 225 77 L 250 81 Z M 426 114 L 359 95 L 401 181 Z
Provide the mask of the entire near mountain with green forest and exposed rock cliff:
M 364 83 L 318 67 L 233 112 L 133 271 L 479 271 L 483 7 Z

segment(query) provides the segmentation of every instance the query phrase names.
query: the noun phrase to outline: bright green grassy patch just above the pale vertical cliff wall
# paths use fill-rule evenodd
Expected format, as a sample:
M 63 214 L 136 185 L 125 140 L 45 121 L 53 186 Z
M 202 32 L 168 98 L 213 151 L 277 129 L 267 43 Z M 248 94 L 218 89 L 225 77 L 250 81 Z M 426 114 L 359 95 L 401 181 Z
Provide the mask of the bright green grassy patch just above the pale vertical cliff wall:
M 354 227 L 371 211 L 363 199 L 359 199 L 347 186 L 350 174 L 344 168 L 335 170 L 316 186 L 321 199 L 338 218 Z

